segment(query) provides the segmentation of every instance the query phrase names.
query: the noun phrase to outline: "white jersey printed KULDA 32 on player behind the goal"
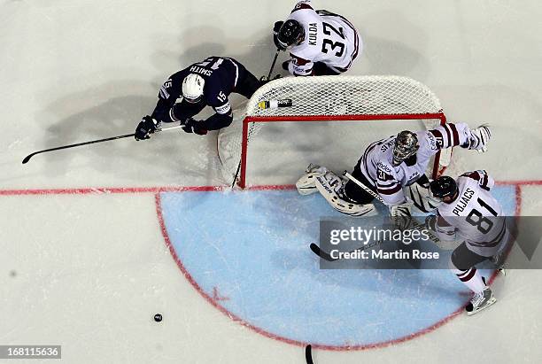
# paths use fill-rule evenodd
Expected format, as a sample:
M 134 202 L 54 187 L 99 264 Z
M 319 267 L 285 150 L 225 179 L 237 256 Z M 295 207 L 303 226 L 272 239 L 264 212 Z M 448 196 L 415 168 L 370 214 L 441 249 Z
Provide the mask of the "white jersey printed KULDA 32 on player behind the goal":
M 313 73 L 314 62 L 322 62 L 345 72 L 361 52 L 360 36 L 344 17 L 314 11 L 310 1 L 300 1 L 290 13 L 305 29 L 305 40 L 290 49 L 290 74 L 306 76 Z

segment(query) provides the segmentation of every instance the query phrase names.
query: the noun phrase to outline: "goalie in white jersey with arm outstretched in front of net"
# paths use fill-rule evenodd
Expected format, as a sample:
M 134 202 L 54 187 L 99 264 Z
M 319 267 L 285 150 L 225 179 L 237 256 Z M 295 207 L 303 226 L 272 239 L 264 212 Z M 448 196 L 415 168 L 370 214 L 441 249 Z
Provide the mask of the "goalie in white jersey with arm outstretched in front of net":
M 418 132 L 402 131 L 398 136 L 371 143 L 364 151 L 352 176 L 372 190 L 390 207 L 392 219 L 399 228 L 410 223 L 411 206 L 422 212 L 437 207 L 429 193 L 425 171 L 437 151 L 461 146 L 486 151 L 491 138 L 487 126 L 468 128 L 465 123 Z M 324 167 L 309 167 L 296 183 L 299 193 L 320 191 L 337 211 L 353 216 L 375 213 L 374 197 L 352 181 L 345 182 Z

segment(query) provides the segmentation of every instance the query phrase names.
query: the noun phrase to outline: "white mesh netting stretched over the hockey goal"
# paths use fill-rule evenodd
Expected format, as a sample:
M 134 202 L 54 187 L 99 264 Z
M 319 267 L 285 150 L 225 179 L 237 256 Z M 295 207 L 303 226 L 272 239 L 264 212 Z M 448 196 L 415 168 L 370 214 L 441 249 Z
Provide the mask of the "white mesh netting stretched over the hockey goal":
M 286 103 L 286 107 L 262 107 L 262 102 L 272 100 L 291 102 Z M 282 136 L 275 133 L 275 141 L 270 140 L 271 136 L 267 136 L 265 143 L 275 143 L 277 149 L 280 147 L 280 151 L 283 151 L 289 148 L 284 141 L 292 133 L 305 134 L 299 128 L 306 131 L 306 128 L 311 128 L 309 124 L 312 122 L 327 122 L 329 128 L 325 132 L 333 133 L 334 128 L 344 128 L 341 124 L 346 124 L 346 121 L 359 120 L 355 126 L 341 131 L 339 137 L 344 139 L 352 133 L 359 135 L 360 140 L 356 143 L 360 153 L 360 143 L 367 146 L 368 143 L 389 136 L 391 131 L 391 134 L 396 134 L 406 128 L 435 128 L 445 122 L 445 116 L 438 98 L 431 90 L 419 81 L 407 77 L 320 76 L 287 77 L 268 82 L 248 101 L 242 120 L 234 120 L 230 127 L 222 129 L 219 134 L 219 157 L 224 167 L 224 175 L 230 180 L 236 174 L 240 161 L 246 160 L 246 155 L 242 158 L 243 151 L 245 150 L 245 154 L 252 151 L 253 146 L 258 144 L 262 128 L 270 128 L 271 122 L 299 122 L 297 126 L 285 128 Z M 379 121 L 368 122 L 376 120 Z M 392 124 L 386 123 L 386 120 L 405 120 L 410 124 L 404 124 L 403 127 L 403 124 L 396 123 L 390 127 Z M 248 127 L 246 136 L 242 133 L 243 123 Z M 261 142 L 264 143 L 264 137 Z M 291 143 L 294 143 L 290 145 L 291 149 L 295 150 L 295 138 Z M 337 152 L 339 151 L 337 147 Z M 447 156 L 441 159 L 449 162 Z M 239 177 L 242 184 L 247 169 L 251 167 L 250 161 L 241 167 Z M 437 173 L 435 168 L 438 167 L 430 166 L 429 172 Z

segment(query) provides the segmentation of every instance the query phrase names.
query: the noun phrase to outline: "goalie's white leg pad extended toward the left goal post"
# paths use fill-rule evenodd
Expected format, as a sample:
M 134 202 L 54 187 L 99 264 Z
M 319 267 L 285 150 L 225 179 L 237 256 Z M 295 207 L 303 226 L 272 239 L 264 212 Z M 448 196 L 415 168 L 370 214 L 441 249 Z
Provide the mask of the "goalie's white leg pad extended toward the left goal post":
M 341 190 L 344 181 L 333 172 L 314 176 L 314 184 L 316 189 L 339 213 L 345 213 L 349 216 L 374 216 L 376 208 L 373 204 L 358 205 L 345 201 L 337 193 Z

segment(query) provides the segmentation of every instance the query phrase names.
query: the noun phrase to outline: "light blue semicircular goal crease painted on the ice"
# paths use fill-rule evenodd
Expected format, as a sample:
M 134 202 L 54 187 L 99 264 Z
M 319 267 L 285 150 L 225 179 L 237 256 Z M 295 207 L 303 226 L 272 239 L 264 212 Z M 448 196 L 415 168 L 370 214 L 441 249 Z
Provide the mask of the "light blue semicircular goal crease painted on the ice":
M 513 186 L 494 188 L 509 215 Z M 182 265 L 228 312 L 277 337 L 372 345 L 456 312 L 468 291 L 448 271 L 321 270 L 308 249 L 321 217 L 340 216 L 296 190 L 163 192 L 166 232 Z M 488 274 L 485 272 L 484 274 Z

